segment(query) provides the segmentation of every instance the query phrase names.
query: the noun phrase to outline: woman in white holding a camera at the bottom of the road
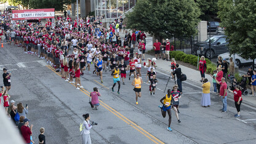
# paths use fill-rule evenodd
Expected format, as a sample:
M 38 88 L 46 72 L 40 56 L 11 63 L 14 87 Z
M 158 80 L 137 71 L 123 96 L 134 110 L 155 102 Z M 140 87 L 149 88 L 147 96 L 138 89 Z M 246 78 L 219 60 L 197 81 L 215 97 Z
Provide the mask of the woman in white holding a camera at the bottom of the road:
M 82 124 L 82 144 L 91 144 L 90 140 L 90 129 L 92 129 L 92 126 L 97 125 L 96 122 L 92 121 L 90 124 L 90 115 L 89 113 L 87 114 L 82 114 L 82 117 L 84 117 L 84 123 Z

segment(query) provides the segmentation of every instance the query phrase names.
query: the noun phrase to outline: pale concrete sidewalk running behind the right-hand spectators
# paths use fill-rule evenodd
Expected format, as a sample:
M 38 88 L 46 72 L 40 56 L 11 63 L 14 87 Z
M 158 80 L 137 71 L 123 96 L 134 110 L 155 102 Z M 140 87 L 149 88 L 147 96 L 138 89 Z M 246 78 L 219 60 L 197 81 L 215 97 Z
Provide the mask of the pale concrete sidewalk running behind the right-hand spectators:
M 132 31 L 129 31 L 132 34 Z M 124 38 L 125 34 L 120 34 L 121 39 Z M 148 50 L 153 49 L 153 42 L 152 42 L 152 37 L 150 35 L 146 35 L 146 52 Z M 134 51 L 137 52 L 138 48 L 136 48 Z M 146 59 L 150 58 L 152 60 L 152 58 L 154 58 L 153 55 L 148 55 L 145 54 L 145 60 L 143 61 L 146 62 Z M 160 71 L 162 73 L 168 74 L 170 75 L 170 62 L 167 62 L 166 60 L 162 60 L 162 59 L 158 59 L 156 60 L 156 71 Z M 202 86 L 202 82 L 200 82 L 201 79 L 201 75 L 200 75 L 200 71 L 199 70 L 194 70 L 192 68 L 188 68 L 186 66 L 180 65 L 180 68 L 182 68 L 182 73 L 186 74 L 186 79 L 188 84 L 191 84 L 191 82 L 193 82 L 194 85 L 196 86 Z M 168 79 L 169 77 L 167 77 L 166 79 Z M 210 74 L 206 74 L 206 78 L 208 79 L 208 81 L 211 84 L 211 88 L 210 91 L 214 91 L 214 88 L 212 87 L 212 77 L 210 76 Z M 250 89 L 247 89 L 249 91 L 249 93 L 251 92 Z M 232 93 L 228 93 L 228 98 L 231 98 L 233 100 L 233 94 Z M 242 102 L 246 103 L 246 105 L 250 105 L 253 106 L 254 108 L 256 107 L 256 97 L 255 96 L 245 96 L 242 95 Z

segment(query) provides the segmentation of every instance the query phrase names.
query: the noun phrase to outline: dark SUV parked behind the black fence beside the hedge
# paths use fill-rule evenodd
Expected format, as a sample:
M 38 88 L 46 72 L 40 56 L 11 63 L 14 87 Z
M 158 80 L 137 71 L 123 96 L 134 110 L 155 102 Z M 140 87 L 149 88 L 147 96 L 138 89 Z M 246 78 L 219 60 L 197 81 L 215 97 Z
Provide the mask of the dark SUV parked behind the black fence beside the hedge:
M 210 41 L 210 48 L 209 48 Z M 198 42 L 193 45 L 193 53 L 195 55 L 204 55 L 206 58 L 212 58 L 214 55 L 223 54 L 228 52 L 228 47 L 226 46 L 228 41 L 226 41 L 225 35 L 212 36 L 206 39 L 204 42 Z

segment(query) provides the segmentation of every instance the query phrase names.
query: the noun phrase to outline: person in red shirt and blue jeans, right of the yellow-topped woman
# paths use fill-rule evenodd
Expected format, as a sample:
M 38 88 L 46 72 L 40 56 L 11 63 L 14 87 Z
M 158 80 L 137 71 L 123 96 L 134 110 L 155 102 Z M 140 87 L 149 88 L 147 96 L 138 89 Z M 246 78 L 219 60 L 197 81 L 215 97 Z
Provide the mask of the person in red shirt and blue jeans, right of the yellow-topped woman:
M 222 78 L 221 82 L 216 81 L 217 84 L 220 84 L 220 96 L 219 97 L 222 97 L 223 107 L 220 110 L 220 111 L 222 111 L 222 113 L 226 113 L 226 107 L 228 106 L 227 103 L 226 103 L 226 95 L 227 95 L 226 90 L 227 90 L 228 86 L 226 85 L 225 80 L 226 80 L 225 78 Z

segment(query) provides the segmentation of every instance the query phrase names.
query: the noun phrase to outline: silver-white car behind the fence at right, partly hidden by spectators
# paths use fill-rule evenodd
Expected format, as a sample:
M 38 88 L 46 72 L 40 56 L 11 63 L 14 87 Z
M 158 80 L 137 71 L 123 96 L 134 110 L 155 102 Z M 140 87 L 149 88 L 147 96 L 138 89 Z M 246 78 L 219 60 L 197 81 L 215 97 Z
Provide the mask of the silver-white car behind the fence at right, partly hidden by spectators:
M 225 58 L 226 59 L 226 62 L 230 63 L 230 57 L 233 57 L 233 55 L 230 55 L 229 52 L 226 52 L 224 54 L 220 54 L 218 55 L 220 57 Z M 236 62 L 236 66 L 240 67 L 242 65 L 247 65 L 247 64 L 252 64 L 253 60 L 252 59 L 249 59 L 249 60 L 246 60 L 242 57 L 240 57 L 239 55 L 235 54 L 234 56 L 236 58 L 236 60 L 234 62 Z M 218 61 L 218 58 L 217 58 L 217 61 Z M 256 59 L 254 60 L 254 65 L 256 66 Z

